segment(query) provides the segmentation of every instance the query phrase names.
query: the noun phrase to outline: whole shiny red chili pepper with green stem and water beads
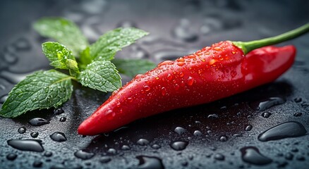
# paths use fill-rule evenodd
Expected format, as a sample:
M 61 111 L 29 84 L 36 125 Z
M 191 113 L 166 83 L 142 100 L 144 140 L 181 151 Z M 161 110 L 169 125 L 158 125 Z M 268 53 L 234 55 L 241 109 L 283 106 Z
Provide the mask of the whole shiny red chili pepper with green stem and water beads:
M 291 67 L 296 49 L 266 45 L 291 39 L 308 30 L 309 24 L 255 42 L 219 42 L 176 61 L 164 61 L 113 92 L 78 127 L 78 133 L 109 132 L 139 118 L 209 103 L 272 82 Z

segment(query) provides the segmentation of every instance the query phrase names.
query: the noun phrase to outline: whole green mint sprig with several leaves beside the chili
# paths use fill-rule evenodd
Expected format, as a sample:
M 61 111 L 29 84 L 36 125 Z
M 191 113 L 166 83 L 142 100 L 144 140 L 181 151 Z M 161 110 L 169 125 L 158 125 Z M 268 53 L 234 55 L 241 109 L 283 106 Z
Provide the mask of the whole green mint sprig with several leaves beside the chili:
M 119 72 L 133 77 L 154 68 L 154 63 L 145 60 L 113 60 L 117 51 L 148 34 L 143 30 L 120 27 L 90 45 L 75 23 L 64 18 L 43 18 L 34 28 L 40 35 L 58 41 L 43 43 L 42 51 L 50 65 L 68 70 L 69 75 L 57 70 L 39 70 L 28 75 L 8 94 L 0 110 L 3 117 L 15 118 L 28 111 L 61 106 L 71 98 L 71 80 L 101 92 L 112 92 L 121 87 Z

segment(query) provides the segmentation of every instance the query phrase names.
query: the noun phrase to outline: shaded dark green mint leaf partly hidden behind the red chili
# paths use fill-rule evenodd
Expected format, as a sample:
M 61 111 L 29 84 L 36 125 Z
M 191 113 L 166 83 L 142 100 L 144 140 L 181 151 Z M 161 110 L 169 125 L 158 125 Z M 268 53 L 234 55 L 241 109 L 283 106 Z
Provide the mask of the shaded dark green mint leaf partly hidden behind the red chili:
M 115 58 L 112 62 L 116 65 L 119 73 L 129 77 L 134 77 L 135 75 L 145 73 L 156 67 L 156 64 L 146 59 Z

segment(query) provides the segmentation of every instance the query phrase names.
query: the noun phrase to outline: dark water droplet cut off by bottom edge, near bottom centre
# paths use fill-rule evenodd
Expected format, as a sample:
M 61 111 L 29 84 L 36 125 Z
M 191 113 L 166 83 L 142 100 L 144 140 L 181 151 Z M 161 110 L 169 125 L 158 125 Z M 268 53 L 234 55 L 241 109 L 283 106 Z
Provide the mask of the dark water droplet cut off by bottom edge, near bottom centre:
M 162 160 L 155 156 L 136 156 L 136 158 L 138 158 L 138 160 L 140 161 L 137 167 L 139 169 L 142 169 L 142 168 L 163 169 L 164 168 Z

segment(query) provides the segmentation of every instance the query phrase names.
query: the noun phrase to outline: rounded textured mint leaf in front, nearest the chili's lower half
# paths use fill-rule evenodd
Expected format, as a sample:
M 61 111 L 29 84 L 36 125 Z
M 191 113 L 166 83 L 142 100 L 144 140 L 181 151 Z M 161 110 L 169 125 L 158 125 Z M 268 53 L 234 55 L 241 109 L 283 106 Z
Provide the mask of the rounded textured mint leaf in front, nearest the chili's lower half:
M 102 92 L 113 92 L 121 87 L 121 77 L 110 61 L 94 61 L 80 72 L 78 78 L 83 86 Z

